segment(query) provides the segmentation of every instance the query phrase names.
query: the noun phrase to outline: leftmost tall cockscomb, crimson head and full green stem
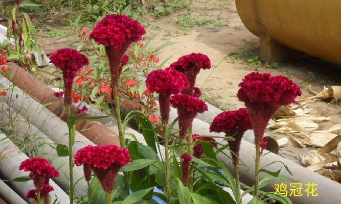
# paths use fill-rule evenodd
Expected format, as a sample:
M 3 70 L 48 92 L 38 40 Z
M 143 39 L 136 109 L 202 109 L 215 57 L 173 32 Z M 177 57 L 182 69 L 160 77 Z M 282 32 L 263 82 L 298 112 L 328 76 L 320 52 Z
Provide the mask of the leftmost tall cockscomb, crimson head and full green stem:
M 72 86 L 76 73 L 89 63 L 85 55 L 79 53 L 76 49 L 64 48 L 58 49 L 50 56 L 50 61 L 61 69 L 64 80 L 64 105 L 67 115 L 67 127 L 69 128 L 69 185 L 70 185 L 70 203 L 74 202 L 74 182 L 73 182 L 73 150 L 75 143 L 76 126 L 70 122 L 72 105 Z

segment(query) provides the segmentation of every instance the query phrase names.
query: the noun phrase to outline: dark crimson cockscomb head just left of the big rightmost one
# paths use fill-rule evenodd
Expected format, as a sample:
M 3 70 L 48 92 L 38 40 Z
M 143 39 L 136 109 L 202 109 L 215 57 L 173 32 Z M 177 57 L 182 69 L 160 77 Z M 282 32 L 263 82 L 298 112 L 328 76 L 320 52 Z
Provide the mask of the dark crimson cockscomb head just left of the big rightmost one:
M 239 149 L 245 131 L 252 129 L 250 117 L 245 108 L 236 111 L 224 111 L 217 115 L 210 126 L 210 132 L 225 133 L 235 141 L 228 141 L 233 164 L 238 164 Z

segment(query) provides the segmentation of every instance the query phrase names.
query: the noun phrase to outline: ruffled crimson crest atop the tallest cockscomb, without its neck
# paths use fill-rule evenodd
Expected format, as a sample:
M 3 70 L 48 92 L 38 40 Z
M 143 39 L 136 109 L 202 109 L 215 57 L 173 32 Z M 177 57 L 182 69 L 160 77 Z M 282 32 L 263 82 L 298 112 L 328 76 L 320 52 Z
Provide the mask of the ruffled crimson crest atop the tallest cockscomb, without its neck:
M 129 44 L 142 39 L 146 33 L 143 25 L 125 15 L 111 14 L 97 23 L 89 38 L 98 44 L 121 49 L 124 44 Z

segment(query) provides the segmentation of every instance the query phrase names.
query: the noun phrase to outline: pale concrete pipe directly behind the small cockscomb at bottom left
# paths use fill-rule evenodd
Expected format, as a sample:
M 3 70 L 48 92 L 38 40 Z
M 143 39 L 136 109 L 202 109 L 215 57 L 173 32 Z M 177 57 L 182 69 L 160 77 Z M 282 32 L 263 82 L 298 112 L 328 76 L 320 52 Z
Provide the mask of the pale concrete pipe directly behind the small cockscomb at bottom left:
M 6 135 L 0 134 L 0 174 L 5 180 L 13 180 L 17 177 L 28 176 L 30 173 L 25 171 L 19 171 L 18 167 L 21 162 L 28 159 L 28 157 L 20 152 L 20 150 L 6 137 Z M 59 203 L 70 202 L 69 196 L 59 188 L 57 184 L 50 180 L 50 185 L 54 191 L 50 193 L 52 201 L 58 198 Z M 33 181 L 28 182 L 10 182 L 10 186 L 13 187 L 22 198 L 26 198 L 27 192 L 34 189 Z M 56 203 L 58 203 L 56 202 Z M 17 203 L 17 202 L 14 202 Z

